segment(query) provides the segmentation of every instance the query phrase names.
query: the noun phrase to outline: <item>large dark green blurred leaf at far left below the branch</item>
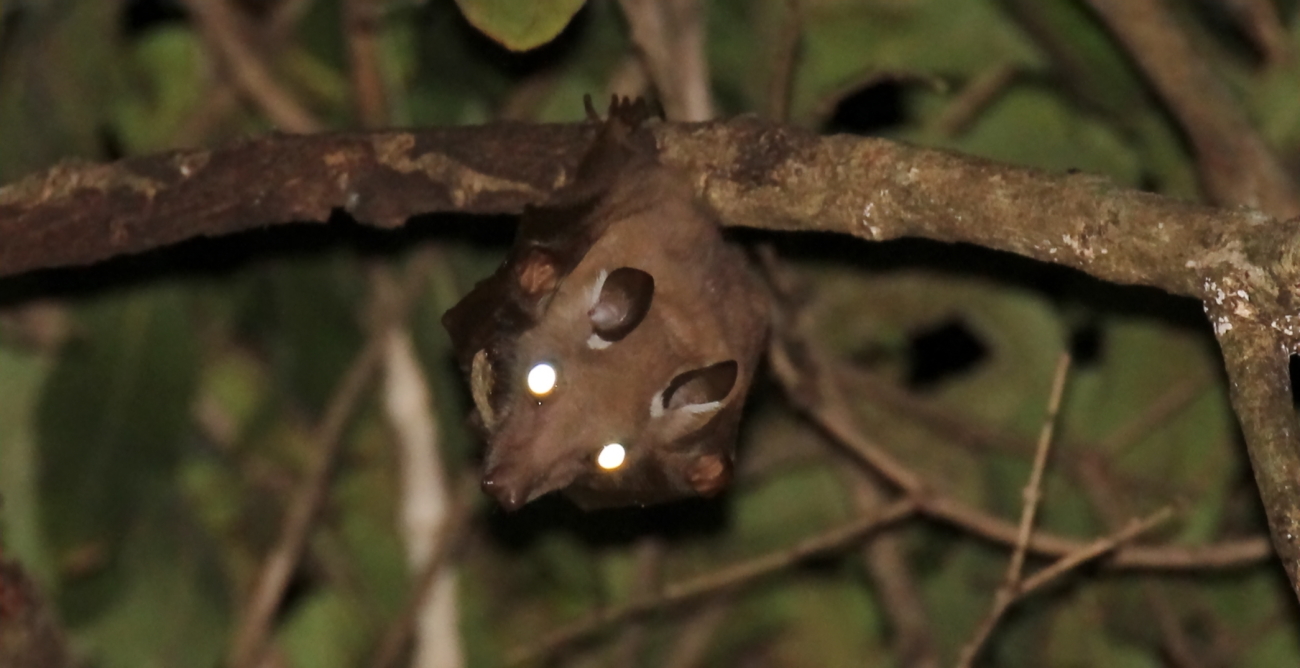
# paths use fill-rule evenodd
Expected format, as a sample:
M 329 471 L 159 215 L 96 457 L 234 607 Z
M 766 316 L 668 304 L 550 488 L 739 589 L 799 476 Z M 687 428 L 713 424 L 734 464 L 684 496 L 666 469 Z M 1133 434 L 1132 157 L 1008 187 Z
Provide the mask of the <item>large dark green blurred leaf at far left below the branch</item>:
M 88 576 L 112 564 L 146 502 L 172 487 L 198 359 L 174 289 L 94 303 L 77 331 L 49 374 L 36 431 L 46 537 L 65 573 Z M 94 580 L 66 591 L 70 621 L 110 598 L 113 582 Z

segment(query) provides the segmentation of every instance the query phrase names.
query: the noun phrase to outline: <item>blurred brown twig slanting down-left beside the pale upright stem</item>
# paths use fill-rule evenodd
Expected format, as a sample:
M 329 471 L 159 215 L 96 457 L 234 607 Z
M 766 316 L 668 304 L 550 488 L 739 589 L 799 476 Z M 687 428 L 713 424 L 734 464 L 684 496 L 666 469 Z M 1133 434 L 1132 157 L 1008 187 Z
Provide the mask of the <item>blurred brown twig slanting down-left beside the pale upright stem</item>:
M 330 396 L 325 417 L 312 438 L 316 444 L 316 459 L 312 461 L 311 472 L 285 512 L 280 539 L 257 572 L 252 595 L 230 642 L 228 664 L 231 668 L 254 668 L 260 664 L 276 608 L 280 607 L 289 580 L 298 568 L 312 524 L 325 500 L 334 461 L 343 448 L 343 429 L 380 368 L 382 343 L 382 337 L 369 337 Z

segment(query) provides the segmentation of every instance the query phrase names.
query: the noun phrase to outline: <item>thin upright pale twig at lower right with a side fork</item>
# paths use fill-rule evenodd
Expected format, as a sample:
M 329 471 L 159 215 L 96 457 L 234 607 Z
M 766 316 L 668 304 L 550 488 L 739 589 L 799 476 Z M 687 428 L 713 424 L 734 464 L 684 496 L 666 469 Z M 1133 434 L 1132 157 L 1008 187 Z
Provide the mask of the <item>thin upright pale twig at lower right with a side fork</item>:
M 993 595 L 993 606 L 979 625 L 975 637 L 962 649 L 958 662 L 961 667 L 968 667 L 979 655 L 980 649 L 988 641 L 988 636 L 997 628 L 997 623 L 1011 607 L 1023 586 L 1020 574 L 1024 571 L 1024 555 L 1030 548 L 1030 535 L 1034 532 L 1034 517 L 1037 515 L 1039 503 L 1043 499 L 1043 473 L 1046 470 L 1048 451 L 1052 446 L 1052 434 L 1056 431 L 1057 416 L 1061 412 L 1061 398 L 1065 394 L 1065 379 L 1070 370 L 1070 355 L 1061 355 L 1057 361 L 1056 374 L 1052 381 L 1052 396 L 1048 399 L 1048 415 L 1043 420 L 1043 430 L 1039 433 L 1039 447 L 1034 455 L 1034 469 L 1030 472 L 1030 482 L 1024 486 L 1024 503 L 1020 508 L 1019 533 L 1015 538 L 1015 550 L 1006 567 L 1006 577 Z

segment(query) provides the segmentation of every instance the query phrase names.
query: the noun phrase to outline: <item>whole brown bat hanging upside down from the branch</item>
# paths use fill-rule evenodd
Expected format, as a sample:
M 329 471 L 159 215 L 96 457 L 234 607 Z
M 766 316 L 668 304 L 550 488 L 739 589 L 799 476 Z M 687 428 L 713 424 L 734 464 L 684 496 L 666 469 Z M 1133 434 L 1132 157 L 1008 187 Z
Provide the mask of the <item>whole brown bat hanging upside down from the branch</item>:
M 731 481 L 767 292 L 659 162 L 649 116 L 615 97 L 573 178 L 442 318 L 488 446 L 482 487 L 508 511 L 556 490 L 593 509 Z

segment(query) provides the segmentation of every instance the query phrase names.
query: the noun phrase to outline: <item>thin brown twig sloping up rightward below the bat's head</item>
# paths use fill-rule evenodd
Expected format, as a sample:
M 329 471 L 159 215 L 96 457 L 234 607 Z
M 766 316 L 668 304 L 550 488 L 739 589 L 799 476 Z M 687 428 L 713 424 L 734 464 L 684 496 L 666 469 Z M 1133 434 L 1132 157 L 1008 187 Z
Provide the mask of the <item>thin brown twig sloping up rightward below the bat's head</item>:
M 569 643 L 627 620 L 680 606 L 707 595 L 731 591 L 811 556 L 855 545 L 881 528 L 905 520 L 915 512 L 916 503 L 910 499 L 893 502 L 872 513 L 850 520 L 785 550 L 741 561 L 685 582 L 668 585 L 658 597 L 606 608 L 586 619 L 562 626 L 536 645 L 511 652 L 507 663 L 511 665 L 533 663 Z

